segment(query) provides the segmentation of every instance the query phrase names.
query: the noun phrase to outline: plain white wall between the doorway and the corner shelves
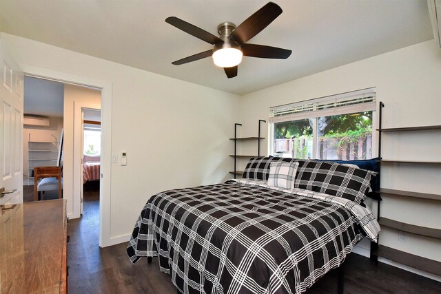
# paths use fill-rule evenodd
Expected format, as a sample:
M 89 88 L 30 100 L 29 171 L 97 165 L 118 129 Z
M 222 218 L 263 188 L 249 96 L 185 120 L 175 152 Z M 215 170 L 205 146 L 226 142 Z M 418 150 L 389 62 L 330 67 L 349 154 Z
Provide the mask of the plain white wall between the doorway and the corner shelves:
M 103 107 L 103 119 L 112 117 L 111 146 L 103 149 L 127 151 L 127 166 L 112 162 L 105 174 L 110 190 L 101 202 L 108 204 L 110 240 L 103 244 L 128 240 L 152 194 L 229 178 L 228 138 L 234 135 L 238 96 L 10 34 L 1 39 L 25 72 L 62 72 L 111 85 L 112 113 Z

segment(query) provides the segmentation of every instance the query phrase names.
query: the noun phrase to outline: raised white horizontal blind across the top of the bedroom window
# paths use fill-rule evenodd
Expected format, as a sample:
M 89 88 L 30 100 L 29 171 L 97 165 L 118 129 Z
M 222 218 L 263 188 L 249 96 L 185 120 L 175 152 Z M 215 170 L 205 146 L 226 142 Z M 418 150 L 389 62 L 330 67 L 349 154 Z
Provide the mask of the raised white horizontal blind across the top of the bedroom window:
M 376 88 L 279 105 L 269 109 L 269 123 L 334 116 L 376 109 Z

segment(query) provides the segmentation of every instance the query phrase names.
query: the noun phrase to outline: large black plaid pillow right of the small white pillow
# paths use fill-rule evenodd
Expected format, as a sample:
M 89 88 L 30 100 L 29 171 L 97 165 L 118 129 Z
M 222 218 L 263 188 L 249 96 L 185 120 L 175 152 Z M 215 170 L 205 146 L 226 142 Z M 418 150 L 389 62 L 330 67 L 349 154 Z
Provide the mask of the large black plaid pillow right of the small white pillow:
M 349 199 L 360 204 L 371 187 L 373 171 L 347 167 L 335 162 L 298 160 L 294 187 Z

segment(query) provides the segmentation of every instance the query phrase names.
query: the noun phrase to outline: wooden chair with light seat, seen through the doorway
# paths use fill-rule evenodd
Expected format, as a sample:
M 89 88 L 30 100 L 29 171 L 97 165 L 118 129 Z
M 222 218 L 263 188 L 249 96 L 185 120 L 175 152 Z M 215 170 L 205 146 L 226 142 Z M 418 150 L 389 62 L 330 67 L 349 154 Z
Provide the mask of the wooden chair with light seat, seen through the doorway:
M 58 183 L 58 198 L 63 198 L 63 178 L 61 167 L 34 167 L 34 201 L 40 200 L 41 191 L 56 190 Z M 40 182 L 39 179 L 42 179 Z

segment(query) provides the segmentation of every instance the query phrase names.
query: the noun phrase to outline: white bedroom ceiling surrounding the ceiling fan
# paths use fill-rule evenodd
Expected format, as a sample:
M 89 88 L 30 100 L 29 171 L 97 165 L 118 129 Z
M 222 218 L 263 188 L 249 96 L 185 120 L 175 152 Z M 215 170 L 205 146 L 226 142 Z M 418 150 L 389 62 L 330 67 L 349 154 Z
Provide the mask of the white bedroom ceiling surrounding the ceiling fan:
M 426 0 L 275 0 L 283 13 L 248 43 L 292 50 L 287 60 L 245 57 L 228 79 L 212 48 L 165 23 L 178 17 L 217 35 L 266 0 L 0 0 L 1 30 L 239 95 L 433 39 Z

